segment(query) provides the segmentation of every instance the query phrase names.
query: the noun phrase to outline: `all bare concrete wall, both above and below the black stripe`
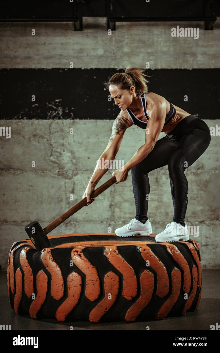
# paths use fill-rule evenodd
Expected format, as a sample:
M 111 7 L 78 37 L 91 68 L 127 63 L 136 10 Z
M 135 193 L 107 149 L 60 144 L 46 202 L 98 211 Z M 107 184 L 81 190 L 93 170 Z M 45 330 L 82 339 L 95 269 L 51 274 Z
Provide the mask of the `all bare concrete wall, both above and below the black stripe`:
M 96 26 L 94 19 L 87 19 L 83 32 L 74 32 L 69 23 L 0 24 L 4 51 L 0 68 L 65 68 L 74 61 L 75 67 L 82 69 L 117 69 L 127 65 L 144 67 L 150 61 L 151 68 L 212 70 L 219 68 L 219 24 L 220 19 L 214 31 L 204 31 L 203 23 L 184 23 L 200 27 L 199 40 L 171 39 L 171 27 L 178 23 L 120 23 L 112 36 L 107 36 L 105 19 L 98 19 Z M 37 36 L 30 36 L 31 28 L 36 28 Z M 173 86 L 173 90 L 177 89 Z M 201 99 L 209 104 L 208 97 Z M 219 119 L 203 120 L 209 127 L 220 125 Z M 12 133 L 10 139 L 0 138 L 1 265 L 5 270 L 13 242 L 27 237 L 24 226 L 37 219 L 45 227 L 82 199 L 96 160 L 107 145 L 112 121 L 45 117 L 1 120 L 0 126 L 11 126 Z M 73 136 L 69 134 L 71 127 Z M 143 131 L 132 126 L 125 133 L 117 158 L 126 163 L 143 141 Z M 31 167 L 32 161 L 36 168 Z M 199 226 L 199 237 L 192 234 L 191 238 L 200 245 L 203 268 L 219 268 L 219 164 L 219 136 L 213 136 L 207 151 L 185 171 L 189 183 L 185 221 L 188 226 Z M 98 186 L 111 178 L 112 172 L 110 169 Z M 167 167 L 152 171 L 149 179 L 148 216 L 157 234 L 173 217 Z M 107 233 L 108 227 L 114 232 L 128 223 L 135 217 L 131 181 L 129 172 L 124 183 L 112 185 L 51 234 Z M 74 195 L 73 201 L 70 194 Z

